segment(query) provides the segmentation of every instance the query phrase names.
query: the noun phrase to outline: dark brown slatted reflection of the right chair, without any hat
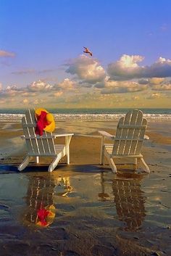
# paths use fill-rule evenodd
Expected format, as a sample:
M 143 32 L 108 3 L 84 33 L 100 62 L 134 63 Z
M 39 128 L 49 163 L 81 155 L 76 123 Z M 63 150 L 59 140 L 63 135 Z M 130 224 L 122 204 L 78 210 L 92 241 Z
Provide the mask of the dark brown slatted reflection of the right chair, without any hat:
M 125 231 L 136 231 L 146 216 L 141 178 L 135 173 L 118 173 L 112 183 L 117 215 L 126 223 Z

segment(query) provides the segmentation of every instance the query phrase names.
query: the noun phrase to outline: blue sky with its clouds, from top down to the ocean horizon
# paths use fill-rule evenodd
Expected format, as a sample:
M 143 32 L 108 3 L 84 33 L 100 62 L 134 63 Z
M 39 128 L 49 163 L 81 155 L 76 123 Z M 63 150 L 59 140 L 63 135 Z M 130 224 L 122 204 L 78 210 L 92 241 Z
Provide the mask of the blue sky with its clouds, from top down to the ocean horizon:
M 1 0 L 0 107 L 171 107 L 170 9 L 169 0 Z

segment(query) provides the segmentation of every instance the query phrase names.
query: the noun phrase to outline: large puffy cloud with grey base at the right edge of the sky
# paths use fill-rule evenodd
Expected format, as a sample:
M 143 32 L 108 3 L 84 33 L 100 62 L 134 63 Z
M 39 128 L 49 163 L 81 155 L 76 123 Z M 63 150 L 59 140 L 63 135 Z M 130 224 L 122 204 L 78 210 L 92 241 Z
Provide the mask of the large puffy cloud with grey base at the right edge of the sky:
M 111 80 L 130 80 L 133 78 L 167 78 L 171 76 L 171 60 L 159 57 L 151 66 L 140 66 L 144 57 L 139 55 L 122 55 L 117 61 L 108 65 Z

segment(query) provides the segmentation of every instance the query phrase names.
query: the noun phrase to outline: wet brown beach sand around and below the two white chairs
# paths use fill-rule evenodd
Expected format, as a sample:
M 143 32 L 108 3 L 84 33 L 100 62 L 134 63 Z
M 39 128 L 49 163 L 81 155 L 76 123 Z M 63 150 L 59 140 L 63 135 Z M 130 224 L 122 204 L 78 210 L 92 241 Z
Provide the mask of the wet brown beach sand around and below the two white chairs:
M 99 130 L 117 122 L 58 122 L 57 133 L 75 133 L 70 165 L 64 157 L 52 173 L 50 159 L 30 163 L 19 123 L 0 123 L 1 255 L 171 255 L 171 127 L 149 122 L 142 154 L 151 170 L 99 165 Z M 62 139 L 59 139 L 62 142 Z M 54 205 L 47 228 L 36 226 L 38 209 Z

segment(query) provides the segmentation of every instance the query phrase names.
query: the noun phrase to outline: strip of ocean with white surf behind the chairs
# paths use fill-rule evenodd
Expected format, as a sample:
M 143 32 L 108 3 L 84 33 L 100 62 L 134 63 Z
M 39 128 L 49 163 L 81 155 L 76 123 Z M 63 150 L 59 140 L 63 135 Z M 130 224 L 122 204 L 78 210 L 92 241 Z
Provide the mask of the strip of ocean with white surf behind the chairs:
M 112 121 L 118 120 L 131 109 L 46 109 L 57 121 Z M 140 109 L 148 120 L 171 120 L 171 109 Z M 20 122 L 25 109 L 0 110 L 1 122 Z

